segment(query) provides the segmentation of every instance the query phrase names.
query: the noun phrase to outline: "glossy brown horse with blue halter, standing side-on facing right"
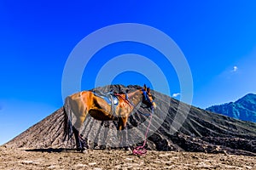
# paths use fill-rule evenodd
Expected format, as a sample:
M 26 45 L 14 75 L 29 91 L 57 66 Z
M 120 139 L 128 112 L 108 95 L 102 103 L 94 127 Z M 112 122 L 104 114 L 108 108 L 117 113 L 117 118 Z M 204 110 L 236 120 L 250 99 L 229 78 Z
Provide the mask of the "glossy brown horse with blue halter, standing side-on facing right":
M 112 111 L 113 107 L 105 99 L 97 96 L 92 91 L 82 91 L 67 96 L 64 111 L 66 111 L 66 116 L 71 111 L 76 120 L 74 122 L 69 120 L 65 133 L 69 135 L 69 138 L 74 133 L 77 150 L 84 150 L 84 139 L 80 136 L 79 131 L 88 113 L 99 121 L 117 121 L 117 130 L 121 131 L 125 129 L 131 111 L 140 102 L 148 105 L 151 109 L 156 107 L 153 96 L 150 94 L 150 89 L 146 85 L 130 94 L 115 94 L 115 96 L 119 100 L 115 113 Z M 122 139 L 120 136 L 120 142 Z

